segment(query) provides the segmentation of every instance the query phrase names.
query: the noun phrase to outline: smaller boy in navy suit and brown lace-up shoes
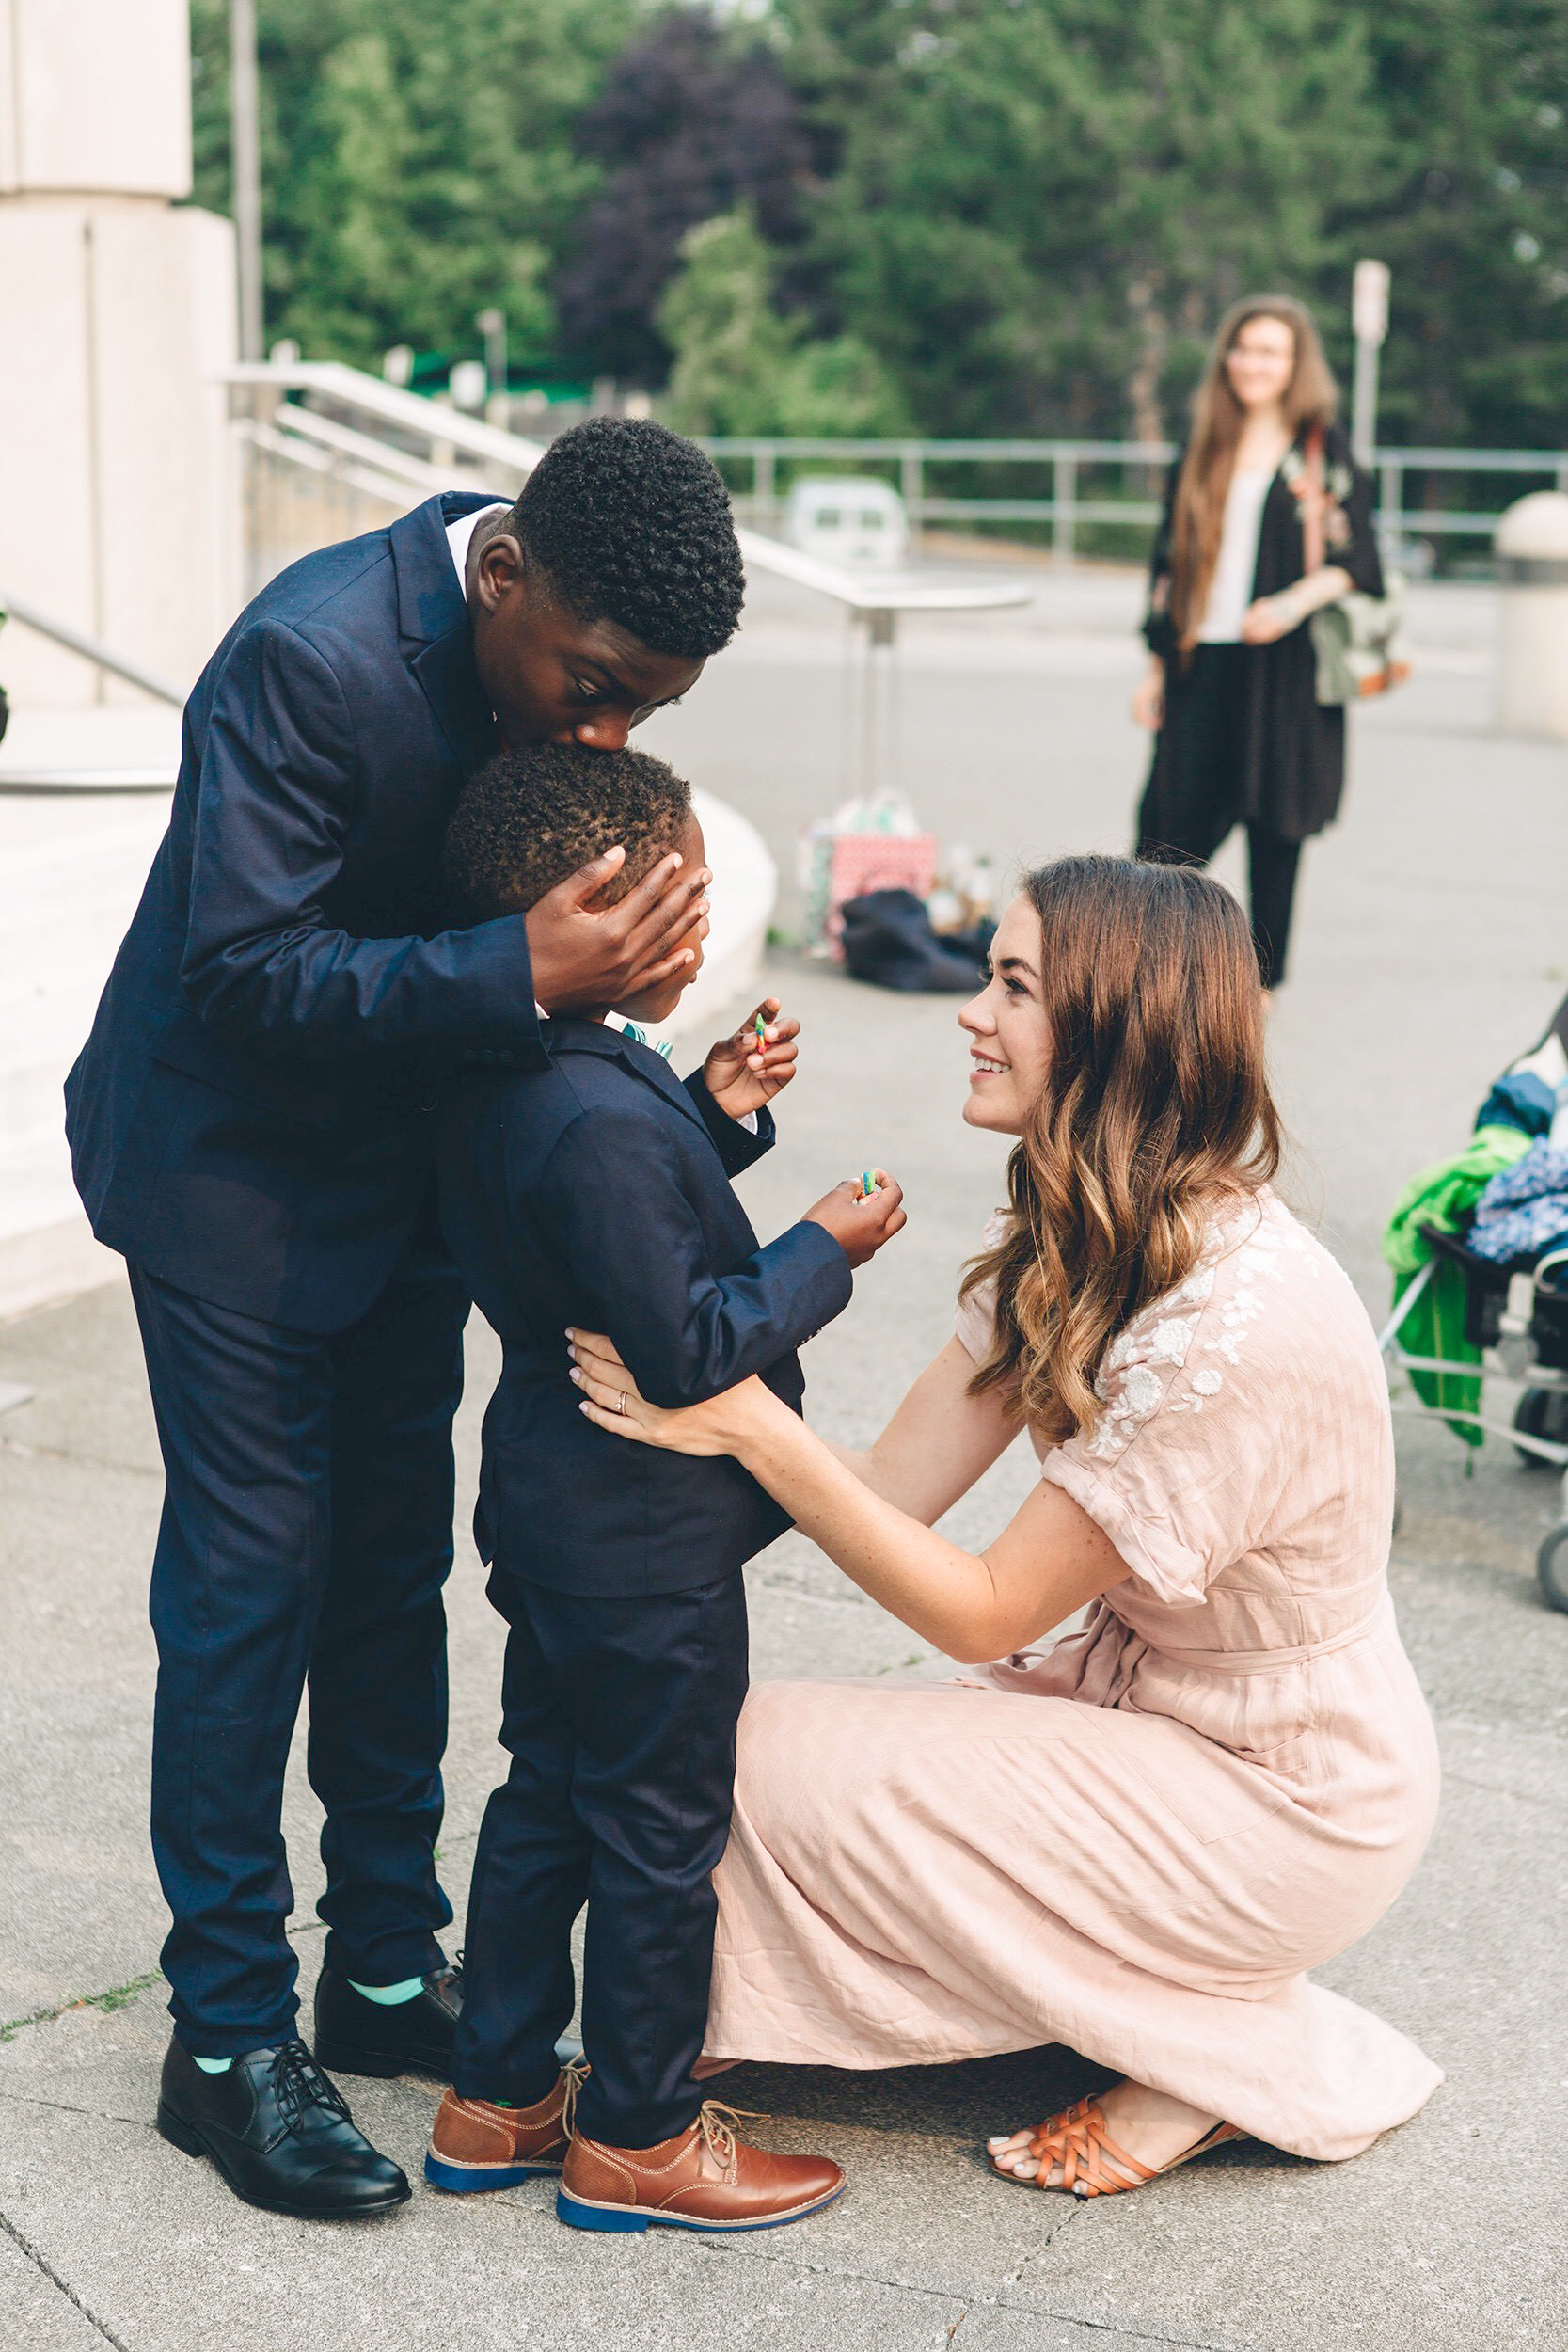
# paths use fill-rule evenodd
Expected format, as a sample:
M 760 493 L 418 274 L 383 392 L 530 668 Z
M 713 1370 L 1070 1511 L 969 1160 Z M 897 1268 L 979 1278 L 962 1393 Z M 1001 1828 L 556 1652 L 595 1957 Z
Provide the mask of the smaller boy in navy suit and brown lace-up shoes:
M 458 802 L 447 880 L 487 922 L 609 842 L 628 851 L 611 889 L 670 849 L 701 863 L 689 788 L 630 750 L 503 753 Z M 663 1021 L 693 974 L 616 1011 Z M 708 1096 L 731 1120 L 769 1122 L 795 1073 L 797 1023 L 769 1014 L 776 1000 L 708 1056 Z M 785 1519 L 733 1461 L 595 1430 L 567 1327 L 607 1331 L 661 1404 L 759 1374 L 799 1409 L 795 1350 L 903 1211 L 891 1183 L 872 1200 L 842 1185 L 762 1249 L 691 1094 L 637 1030 L 571 1016 L 543 1035 L 548 1068 L 461 1082 L 437 1145 L 447 1242 L 505 1355 L 475 1536 L 510 1625 L 512 1764 L 480 1832 L 454 2086 L 425 2176 L 489 2190 L 564 2169 L 557 2211 L 592 2230 L 771 2227 L 844 2178 L 738 2140 L 693 2065 L 748 1682 L 741 1566 Z M 588 2072 L 562 2074 L 583 1903 Z

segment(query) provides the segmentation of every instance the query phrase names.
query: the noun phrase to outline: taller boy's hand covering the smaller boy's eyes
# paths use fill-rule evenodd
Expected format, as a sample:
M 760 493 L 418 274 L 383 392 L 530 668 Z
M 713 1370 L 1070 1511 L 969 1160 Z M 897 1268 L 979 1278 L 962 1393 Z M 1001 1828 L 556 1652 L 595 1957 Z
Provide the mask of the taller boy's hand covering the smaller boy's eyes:
M 607 849 L 529 908 L 534 995 L 545 1011 L 604 1011 L 663 988 L 698 962 L 710 870 L 672 854 L 625 898 L 595 908 L 623 863 L 625 849 Z

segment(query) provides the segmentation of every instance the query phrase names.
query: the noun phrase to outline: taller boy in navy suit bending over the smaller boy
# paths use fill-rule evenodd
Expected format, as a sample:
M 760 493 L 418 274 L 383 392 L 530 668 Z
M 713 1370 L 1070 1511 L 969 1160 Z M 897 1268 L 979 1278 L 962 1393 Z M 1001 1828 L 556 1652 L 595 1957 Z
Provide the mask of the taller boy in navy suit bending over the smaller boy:
M 503 736 L 616 750 L 733 633 L 708 459 L 592 419 L 515 506 L 444 494 L 240 614 L 186 706 L 169 833 L 66 1084 L 94 1232 L 129 1258 L 167 1501 L 153 1562 L 153 1851 L 174 2042 L 158 2122 L 237 2194 L 400 2204 L 296 2037 L 282 1776 L 310 1686 L 327 1811 L 315 2060 L 451 2072 L 435 1877 L 442 1583 L 468 1296 L 433 1211 L 470 1054 L 541 1068 L 538 1004 L 668 981 L 705 873 L 611 908 L 609 847 L 529 915 L 451 931 L 440 847 Z M 731 1167 L 743 1134 L 693 1087 Z

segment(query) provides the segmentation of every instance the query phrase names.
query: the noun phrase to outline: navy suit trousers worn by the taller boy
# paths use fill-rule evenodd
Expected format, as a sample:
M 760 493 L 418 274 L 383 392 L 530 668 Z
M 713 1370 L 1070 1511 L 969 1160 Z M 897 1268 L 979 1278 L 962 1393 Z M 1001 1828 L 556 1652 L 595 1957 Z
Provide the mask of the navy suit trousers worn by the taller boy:
M 442 1964 L 451 1416 L 468 1298 L 411 1242 L 350 1331 L 252 1322 L 132 1268 L 165 1510 L 153 1559 L 153 1853 L 162 1966 L 200 2058 L 294 2030 L 282 1780 L 310 1689 L 324 1957 L 362 1983 Z

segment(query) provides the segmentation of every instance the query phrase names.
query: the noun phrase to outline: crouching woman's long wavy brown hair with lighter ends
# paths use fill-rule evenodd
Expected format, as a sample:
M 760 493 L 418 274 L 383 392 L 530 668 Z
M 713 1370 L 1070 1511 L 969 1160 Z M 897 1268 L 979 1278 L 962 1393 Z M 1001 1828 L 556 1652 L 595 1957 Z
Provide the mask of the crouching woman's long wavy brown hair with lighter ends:
M 997 1287 L 976 1392 L 1016 1392 L 1041 1437 L 1088 1430 L 1119 1331 L 1197 1265 L 1218 1197 L 1279 1169 L 1258 950 L 1232 894 L 1190 866 L 1058 858 L 1039 915 L 1051 1068 L 1009 1160 L 1006 1235 L 961 1296 Z

